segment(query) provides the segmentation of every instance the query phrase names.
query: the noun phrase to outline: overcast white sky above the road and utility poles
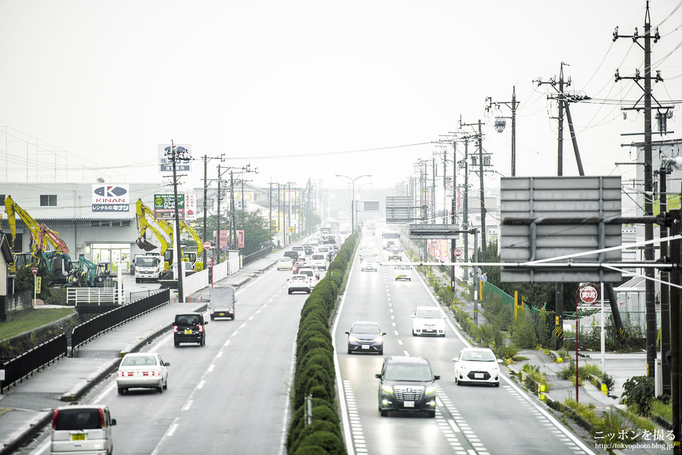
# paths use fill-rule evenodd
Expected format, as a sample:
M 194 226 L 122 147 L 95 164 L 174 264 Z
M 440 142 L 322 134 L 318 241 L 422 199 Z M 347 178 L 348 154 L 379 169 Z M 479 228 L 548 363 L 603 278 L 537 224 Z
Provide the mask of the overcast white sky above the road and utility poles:
M 661 24 L 653 69 L 662 104 L 682 99 L 680 0 L 652 0 Z M 561 62 L 585 172 L 634 177 L 644 70 L 622 34 L 644 33 L 645 0 L 174 1 L 0 0 L 0 182 L 163 181 L 160 143 L 192 146 L 223 166 L 251 163 L 256 184 L 372 174 L 375 187 L 413 175 L 440 134 L 485 122 L 495 187 L 510 175 L 511 126 L 494 131 L 486 97 L 516 86 L 516 175 L 556 175 Z M 643 40 L 640 40 L 643 44 Z M 609 100 L 604 102 L 604 100 Z M 615 102 L 622 100 L 622 104 Z M 502 107 L 497 115 L 509 116 Z M 669 130 L 682 136 L 679 105 Z M 578 175 L 565 125 L 564 175 Z M 655 138 L 659 138 L 656 136 Z M 358 151 L 363 150 L 363 151 Z M 305 155 L 305 156 L 302 156 Z M 209 165 L 216 177 L 217 160 Z M 448 166 L 451 169 L 451 165 Z M 359 182 L 358 182 L 359 184 Z

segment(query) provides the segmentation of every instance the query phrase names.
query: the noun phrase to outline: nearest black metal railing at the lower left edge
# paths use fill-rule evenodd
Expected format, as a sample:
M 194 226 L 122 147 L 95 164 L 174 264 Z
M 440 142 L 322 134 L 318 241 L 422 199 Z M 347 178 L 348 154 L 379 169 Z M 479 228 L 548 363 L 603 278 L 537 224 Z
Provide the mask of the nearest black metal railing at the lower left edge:
M 33 372 L 65 356 L 67 350 L 66 335 L 61 334 L 7 361 L 0 366 L 0 370 L 4 371 L 4 379 L 0 380 L 0 393 L 17 381 L 22 381 L 23 378 L 33 375 Z

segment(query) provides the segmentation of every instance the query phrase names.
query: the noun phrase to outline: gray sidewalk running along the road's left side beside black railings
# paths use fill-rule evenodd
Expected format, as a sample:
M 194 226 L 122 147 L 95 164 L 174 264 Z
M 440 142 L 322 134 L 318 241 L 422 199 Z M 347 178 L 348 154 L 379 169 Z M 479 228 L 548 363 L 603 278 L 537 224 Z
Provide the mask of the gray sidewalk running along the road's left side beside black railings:
M 250 263 L 220 280 L 221 285 L 239 287 L 271 268 L 282 251 Z M 217 283 L 216 283 L 217 284 Z M 80 346 L 74 357 L 65 357 L 13 385 L 0 395 L 0 455 L 11 454 L 28 442 L 45 425 L 50 424 L 53 410 L 80 400 L 100 380 L 118 368 L 126 352 L 134 352 L 171 328 L 178 311 L 202 311 L 207 298 L 204 290 L 190 302 L 171 302 Z

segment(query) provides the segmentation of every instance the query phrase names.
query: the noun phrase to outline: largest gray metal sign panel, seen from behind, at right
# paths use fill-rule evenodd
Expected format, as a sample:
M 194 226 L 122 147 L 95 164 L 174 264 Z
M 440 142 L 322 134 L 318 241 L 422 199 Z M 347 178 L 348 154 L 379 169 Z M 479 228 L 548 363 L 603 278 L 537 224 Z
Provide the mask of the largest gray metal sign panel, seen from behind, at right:
M 620 177 L 504 177 L 500 182 L 500 258 L 538 261 L 619 246 Z M 564 219 L 558 220 L 558 219 Z M 602 222 L 600 225 L 600 221 Z M 563 259 L 565 264 L 569 260 Z M 621 251 L 575 258 L 579 263 L 621 261 Z M 620 281 L 621 273 L 588 268 L 503 267 L 504 282 Z

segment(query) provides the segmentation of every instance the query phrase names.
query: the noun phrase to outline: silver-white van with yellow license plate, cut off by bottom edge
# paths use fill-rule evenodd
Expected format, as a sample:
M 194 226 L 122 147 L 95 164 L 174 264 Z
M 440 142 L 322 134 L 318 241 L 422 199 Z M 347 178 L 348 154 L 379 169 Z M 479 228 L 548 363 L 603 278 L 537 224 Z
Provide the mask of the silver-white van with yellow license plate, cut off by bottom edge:
M 111 454 L 115 424 L 106 406 L 58 407 L 52 419 L 50 455 Z

